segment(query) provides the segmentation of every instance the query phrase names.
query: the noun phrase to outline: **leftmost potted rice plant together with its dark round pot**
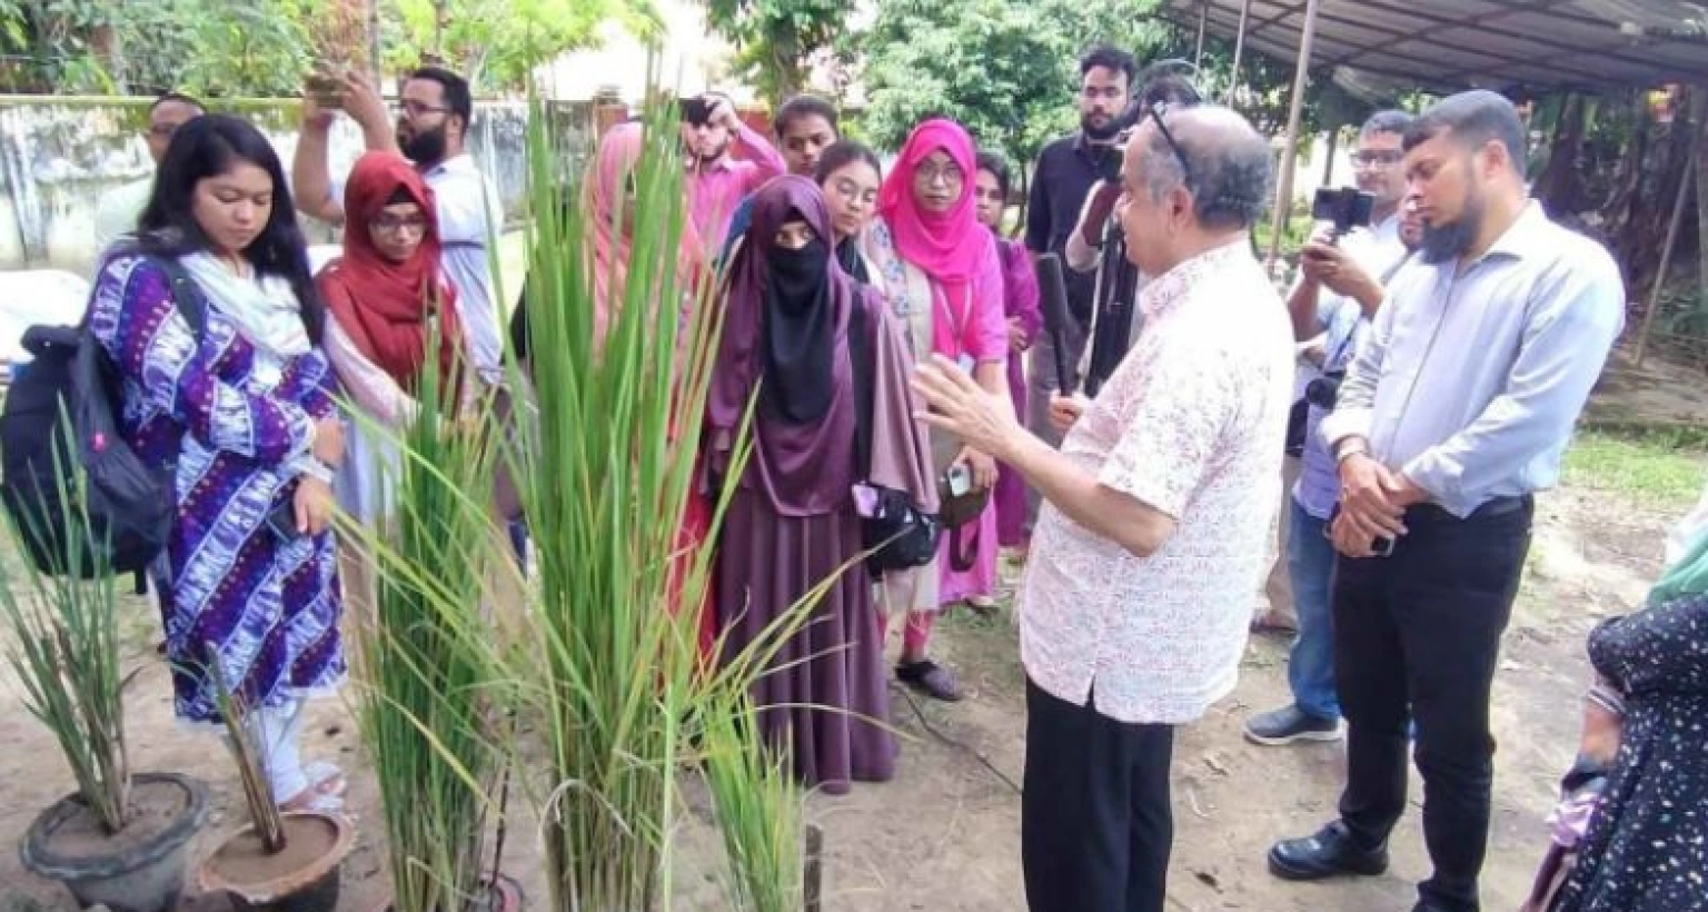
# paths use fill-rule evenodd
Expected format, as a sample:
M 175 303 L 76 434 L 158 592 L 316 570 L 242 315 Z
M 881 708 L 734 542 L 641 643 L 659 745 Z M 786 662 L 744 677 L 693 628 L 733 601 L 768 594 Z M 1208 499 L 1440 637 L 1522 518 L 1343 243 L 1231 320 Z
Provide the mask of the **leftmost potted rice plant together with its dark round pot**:
M 89 528 L 87 514 L 73 523 Z M 26 533 L 10 517 L 5 526 L 20 553 Z M 102 572 L 104 550 L 87 535 L 65 541 L 65 567 L 92 565 L 91 579 L 0 562 L 7 658 L 26 707 L 53 733 L 77 779 L 77 791 L 29 827 L 22 862 L 65 883 L 85 907 L 159 912 L 183 892 L 190 840 L 207 820 L 207 787 L 186 775 L 130 772 L 123 692 L 133 675 L 120 663 L 118 581 Z

